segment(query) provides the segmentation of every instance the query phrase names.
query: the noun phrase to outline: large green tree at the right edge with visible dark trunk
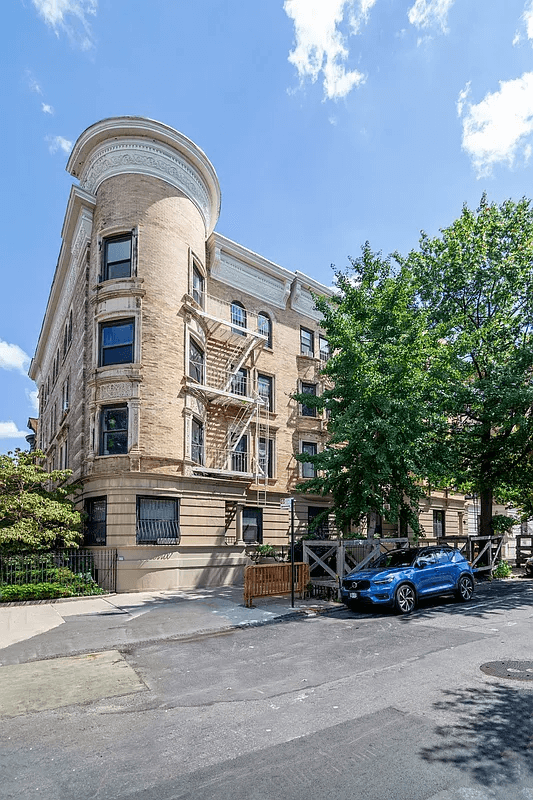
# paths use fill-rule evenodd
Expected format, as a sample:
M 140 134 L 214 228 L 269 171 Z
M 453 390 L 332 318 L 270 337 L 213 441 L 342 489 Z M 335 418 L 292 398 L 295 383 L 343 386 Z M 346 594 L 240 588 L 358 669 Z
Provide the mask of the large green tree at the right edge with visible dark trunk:
M 533 485 L 533 211 L 529 200 L 466 206 L 404 262 L 448 350 L 439 403 L 449 420 L 441 481 L 481 500 L 527 502 Z

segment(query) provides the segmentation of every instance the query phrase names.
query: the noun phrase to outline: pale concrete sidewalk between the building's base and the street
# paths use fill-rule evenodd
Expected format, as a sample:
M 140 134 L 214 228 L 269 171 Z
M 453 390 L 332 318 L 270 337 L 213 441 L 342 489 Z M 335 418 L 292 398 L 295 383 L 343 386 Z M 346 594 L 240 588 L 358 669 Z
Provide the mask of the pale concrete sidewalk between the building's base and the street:
M 76 631 L 72 630 L 73 623 L 89 634 L 85 637 L 85 645 L 91 646 L 90 641 L 98 644 L 97 640 L 102 638 L 98 631 L 102 634 L 106 631 L 103 638 L 109 639 L 111 630 L 117 643 L 125 644 L 143 638 L 181 638 L 215 633 L 342 607 L 316 598 L 300 600 L 295 597 L 295 607 L 291 608 L 290 595 L 257 598 L 255 603 L 255 608 L 246 608 L 242 587 L 225 586 L 2 605 L 0 649 L 39 637 L 59 626 L 64 626 L 61 639 L 65 647 L 70 638 L 77 638 Z M 72 644 L 75 650 L 80 650 L 79 639 Z M 40 650 L 39 647 L 36 649 Z

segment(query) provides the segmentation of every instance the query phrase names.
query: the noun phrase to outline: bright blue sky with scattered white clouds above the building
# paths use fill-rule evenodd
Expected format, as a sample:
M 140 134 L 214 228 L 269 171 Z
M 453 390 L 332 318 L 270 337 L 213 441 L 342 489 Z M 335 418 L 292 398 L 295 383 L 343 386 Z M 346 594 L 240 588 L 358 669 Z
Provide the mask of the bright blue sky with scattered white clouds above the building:
M 370 241 L 406 253 L 483 191 L 531 196 L 533 0 L 8 0 L 1 50 L 0 452 L 92 123 L 134 114 L 217 170 L 217 230 L 330 284 Z

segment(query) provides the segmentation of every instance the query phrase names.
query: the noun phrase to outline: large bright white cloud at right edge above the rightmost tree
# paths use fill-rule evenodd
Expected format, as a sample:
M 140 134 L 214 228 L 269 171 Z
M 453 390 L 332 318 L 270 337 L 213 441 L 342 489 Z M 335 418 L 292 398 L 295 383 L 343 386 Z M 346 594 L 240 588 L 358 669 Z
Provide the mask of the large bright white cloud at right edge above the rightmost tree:
M 500 81 L 499 91 L 489 92 L 477 105 L 463 98 L 462 112 L 462 147 L 478 178 L 490 175 L 498 163 L 512 167 L 520 153 L 527 161 L 531 153 L 527 140 L 533 133 L 533 72 Z

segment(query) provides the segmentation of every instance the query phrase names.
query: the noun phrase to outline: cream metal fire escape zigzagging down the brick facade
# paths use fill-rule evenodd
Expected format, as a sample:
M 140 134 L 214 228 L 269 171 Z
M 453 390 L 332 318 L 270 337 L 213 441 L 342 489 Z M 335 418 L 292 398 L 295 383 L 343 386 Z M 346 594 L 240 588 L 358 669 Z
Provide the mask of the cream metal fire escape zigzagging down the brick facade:
M 184 298 L 204 333 L 203 349 L 191 340 L 187 390 L 206 409 L 193 441 L 193 473 L 256 484 L 266 502 L 269 400 L 255 385 L 257 362 L 268 336 L 257 315 L 205 293 Z

